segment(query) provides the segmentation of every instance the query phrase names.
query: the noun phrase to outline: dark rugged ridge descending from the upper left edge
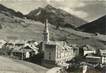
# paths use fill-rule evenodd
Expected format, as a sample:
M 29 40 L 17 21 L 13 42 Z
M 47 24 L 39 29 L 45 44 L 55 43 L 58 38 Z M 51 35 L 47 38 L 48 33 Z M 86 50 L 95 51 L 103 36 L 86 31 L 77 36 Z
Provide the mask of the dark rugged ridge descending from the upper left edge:
M 5 7 L 4 5 L 0 4 L 0 13 L 3 13 L 7 16 L 17 16 L 17 17 L 24 17 L 24 15 L 21 12 L 16 12 L 10 8 Z

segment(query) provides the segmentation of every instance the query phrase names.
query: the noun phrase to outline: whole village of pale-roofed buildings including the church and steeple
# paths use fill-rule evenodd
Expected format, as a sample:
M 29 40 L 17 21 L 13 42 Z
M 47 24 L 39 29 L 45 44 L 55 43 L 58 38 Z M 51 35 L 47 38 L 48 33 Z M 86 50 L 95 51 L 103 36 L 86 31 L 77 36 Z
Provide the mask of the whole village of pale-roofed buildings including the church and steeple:
M 49 39 L 48 20 L 45 20 L 43 41 L 36 40 L 0 40 L 0 55 L 13 59 L 26 60 L 42 54 L 41 65 L 47 68 L 62 67 L 68 71 L 76 71 L 80 67 L 86 73 L 87 66 L 103 70 L 106 66 L 106 50 L 96 49 L 88 44 L 78 46 L 67 45 L 65 41 Z

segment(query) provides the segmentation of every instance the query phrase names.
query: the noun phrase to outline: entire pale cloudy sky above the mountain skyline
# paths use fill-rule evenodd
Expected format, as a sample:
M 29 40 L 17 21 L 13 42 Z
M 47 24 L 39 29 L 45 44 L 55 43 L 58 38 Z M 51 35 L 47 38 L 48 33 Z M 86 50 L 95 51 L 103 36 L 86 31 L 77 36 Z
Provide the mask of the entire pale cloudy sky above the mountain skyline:
M 0 4 L 23 14 L 50 4 L 87 21 L 106 15 L 106 0 L 0 0 Z

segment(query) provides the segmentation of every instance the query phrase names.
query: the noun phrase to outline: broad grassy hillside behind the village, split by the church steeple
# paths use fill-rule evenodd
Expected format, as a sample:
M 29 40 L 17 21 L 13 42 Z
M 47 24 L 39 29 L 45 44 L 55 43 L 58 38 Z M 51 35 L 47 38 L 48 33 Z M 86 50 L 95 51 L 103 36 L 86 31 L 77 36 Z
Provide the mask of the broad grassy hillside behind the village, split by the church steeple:
M 8 12 L 8 11 L 7 11 Z M 0 39 L 5 40 L 30 40 L 42 41 L 44 24 L 31 19 L 19 18 L 5 15 L 0 12 Z M 60 27 L 49 24 L 50 39 L 66 41 L 68 44 L 90 44 L 96 48 L 105 48 L 104 42 L 95 39 L 95 35 L 76 31 L 70 28 Z

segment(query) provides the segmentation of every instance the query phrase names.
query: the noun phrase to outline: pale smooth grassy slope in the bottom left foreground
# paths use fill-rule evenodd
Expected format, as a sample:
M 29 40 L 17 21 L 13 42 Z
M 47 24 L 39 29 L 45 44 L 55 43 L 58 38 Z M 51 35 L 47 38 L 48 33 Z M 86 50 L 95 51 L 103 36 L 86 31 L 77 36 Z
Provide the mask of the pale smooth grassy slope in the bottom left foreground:
M 47 70 L 36 64 L 0 56 L 0 73 L 46 73 Z

